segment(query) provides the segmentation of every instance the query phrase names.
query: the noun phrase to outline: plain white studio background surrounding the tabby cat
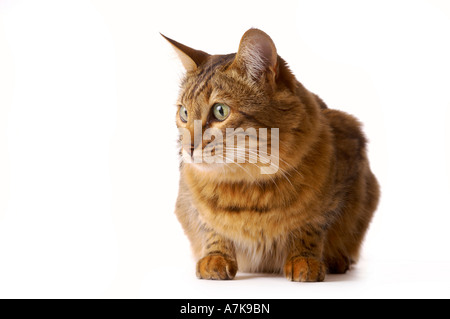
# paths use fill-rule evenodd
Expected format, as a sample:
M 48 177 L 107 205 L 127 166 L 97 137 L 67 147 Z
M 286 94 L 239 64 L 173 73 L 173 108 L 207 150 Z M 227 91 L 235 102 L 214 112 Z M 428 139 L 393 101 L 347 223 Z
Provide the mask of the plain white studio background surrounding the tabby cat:
M 182 67 L 266 31 L 356 115 L 382 200 L 361 262 L 327 282 L 195 278 L 173 208 Z M 0 297 L 450 297 L 450 5 L 0 0 Z

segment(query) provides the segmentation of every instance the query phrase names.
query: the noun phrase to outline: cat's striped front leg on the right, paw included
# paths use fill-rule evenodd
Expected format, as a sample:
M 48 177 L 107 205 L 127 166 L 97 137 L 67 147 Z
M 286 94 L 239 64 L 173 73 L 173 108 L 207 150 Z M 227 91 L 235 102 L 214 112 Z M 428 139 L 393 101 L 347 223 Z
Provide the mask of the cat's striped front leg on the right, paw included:
M 308 224 L 289 238 L 289 253 L 284 274 L 291 281 L 316 282 L 325 279 L 323 262 L 325 231 Z

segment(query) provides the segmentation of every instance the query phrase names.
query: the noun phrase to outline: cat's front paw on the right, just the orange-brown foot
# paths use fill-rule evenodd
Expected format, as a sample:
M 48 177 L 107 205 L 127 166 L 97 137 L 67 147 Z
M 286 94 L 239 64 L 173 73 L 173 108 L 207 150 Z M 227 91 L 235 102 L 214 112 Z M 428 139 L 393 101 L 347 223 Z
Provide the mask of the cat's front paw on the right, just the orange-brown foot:
M 325 265 L 316 258 L 292 257 L 284 265 L 284 274 L 290 281 L 323 281 L 325 279 Z

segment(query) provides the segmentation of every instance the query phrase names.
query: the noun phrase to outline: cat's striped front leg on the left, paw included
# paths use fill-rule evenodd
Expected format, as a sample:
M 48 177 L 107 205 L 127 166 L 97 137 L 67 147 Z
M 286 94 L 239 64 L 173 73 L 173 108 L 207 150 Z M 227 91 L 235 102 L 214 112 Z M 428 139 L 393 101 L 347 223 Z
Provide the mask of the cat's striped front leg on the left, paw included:
M 205 231 L 204 238 L 204 257 L 197 262 L 197 277 L 233 279 L 238 270 L 233 243 L 213 230 Z

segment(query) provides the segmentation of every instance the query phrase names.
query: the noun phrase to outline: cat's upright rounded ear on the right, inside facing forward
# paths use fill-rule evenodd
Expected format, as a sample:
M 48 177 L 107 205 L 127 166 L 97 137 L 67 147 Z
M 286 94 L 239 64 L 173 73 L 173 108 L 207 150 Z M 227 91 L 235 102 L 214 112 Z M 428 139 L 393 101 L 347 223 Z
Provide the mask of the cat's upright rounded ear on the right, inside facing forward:
M 278 54 L 275 44 L 265 32 L 250 29 L 242 36 L 233 64 L 256 81 L 267 73 L 276 77 Z

